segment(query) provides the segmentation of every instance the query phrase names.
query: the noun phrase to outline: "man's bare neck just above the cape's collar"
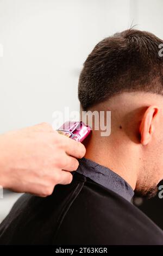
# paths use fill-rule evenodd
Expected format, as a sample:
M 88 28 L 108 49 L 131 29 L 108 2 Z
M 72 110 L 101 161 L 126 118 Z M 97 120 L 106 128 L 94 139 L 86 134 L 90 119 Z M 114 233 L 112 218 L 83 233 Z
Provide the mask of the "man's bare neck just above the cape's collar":
M 123 138 L 124 137 L 124 138 Z M 137 156 L 135 146 L 127 141 L 123 133 L 101 137 L 99 131 L 92 131 L 85 142 L 85 157 L 120 175 L 135 190 L 137 180 Z

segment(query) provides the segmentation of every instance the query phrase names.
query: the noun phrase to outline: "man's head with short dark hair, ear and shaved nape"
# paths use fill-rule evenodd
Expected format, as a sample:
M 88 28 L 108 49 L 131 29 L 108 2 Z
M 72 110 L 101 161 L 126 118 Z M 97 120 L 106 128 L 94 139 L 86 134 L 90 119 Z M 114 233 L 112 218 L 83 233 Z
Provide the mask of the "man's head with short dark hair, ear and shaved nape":
M 129 175 L 129 181 L 133 175 L 135 190 L 143 195 L 153 192 L 163 179 L 162 43 L 148 32 L 116 33 L 95 46 L 79 78 L 82 109 L 111 111 L 111 135 L 98 140 L 106 152 L 102 158 L 117 172 L 121 163 L 112 163 L 117 154 L 119 162 L 123 161 L 120 174 Z

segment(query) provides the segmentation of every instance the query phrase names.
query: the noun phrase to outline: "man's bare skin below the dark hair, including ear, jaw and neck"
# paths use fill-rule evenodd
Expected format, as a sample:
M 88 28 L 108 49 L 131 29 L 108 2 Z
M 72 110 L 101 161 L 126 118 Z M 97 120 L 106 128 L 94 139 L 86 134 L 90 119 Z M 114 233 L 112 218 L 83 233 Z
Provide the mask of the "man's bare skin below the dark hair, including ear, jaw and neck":
M 85 157 L 122 176 L 137 194 L 154 196 L 163 179 L 163 96 L 121 93 L 90 110 L 111 111 L 111 134 L 92 130 Z

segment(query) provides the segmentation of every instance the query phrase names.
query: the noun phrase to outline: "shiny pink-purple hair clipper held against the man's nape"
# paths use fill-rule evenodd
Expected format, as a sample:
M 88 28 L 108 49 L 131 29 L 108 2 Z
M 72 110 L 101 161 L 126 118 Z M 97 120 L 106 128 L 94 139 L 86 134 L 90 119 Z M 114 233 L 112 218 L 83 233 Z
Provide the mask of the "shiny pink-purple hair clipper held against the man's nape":
M 91 127 L 85 125 L 82 121 L 67 121 L 58 129 L 58 132 L 75 141 L 83 142 L 91 133 Z

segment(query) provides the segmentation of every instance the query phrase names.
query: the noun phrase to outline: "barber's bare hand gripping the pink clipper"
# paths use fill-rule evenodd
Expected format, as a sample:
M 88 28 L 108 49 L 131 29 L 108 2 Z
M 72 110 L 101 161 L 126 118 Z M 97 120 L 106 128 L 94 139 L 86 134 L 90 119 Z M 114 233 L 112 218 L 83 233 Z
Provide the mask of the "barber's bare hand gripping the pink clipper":
M 60 135 L 47 123 L 0 135 L 0 185 L 46 197 L 57 184 L 70 184 L 82 143 Z M 68 171 L 68 172 L 67 172 Z

